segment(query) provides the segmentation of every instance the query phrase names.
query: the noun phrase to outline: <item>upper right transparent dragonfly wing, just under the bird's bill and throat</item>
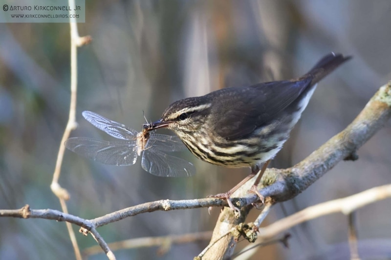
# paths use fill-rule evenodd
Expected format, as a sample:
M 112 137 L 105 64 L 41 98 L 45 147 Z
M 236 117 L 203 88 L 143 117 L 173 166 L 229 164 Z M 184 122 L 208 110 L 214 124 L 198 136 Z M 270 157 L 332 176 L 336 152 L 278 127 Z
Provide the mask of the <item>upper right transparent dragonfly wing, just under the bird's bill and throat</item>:
M 159 134 L 151 134 L 146 147 L 148 146 L 162 152 L 178 152 L 187 149 L 179 137 Z

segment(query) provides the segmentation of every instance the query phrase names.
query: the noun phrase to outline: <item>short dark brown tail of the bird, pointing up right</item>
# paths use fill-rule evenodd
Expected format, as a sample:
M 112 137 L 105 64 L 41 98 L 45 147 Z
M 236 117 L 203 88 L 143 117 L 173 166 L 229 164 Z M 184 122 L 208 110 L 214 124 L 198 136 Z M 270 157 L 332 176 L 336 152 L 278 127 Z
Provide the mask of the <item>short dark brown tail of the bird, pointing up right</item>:
M 304 77 L 307 78 L 309 75 L 311 75 L 311 85 L 314 85 L 319 80 L 325 78 L 339 65 L 350 59 L 351 56 L 344 57 L 342 54 L 335 54 L 332 52 L 319 60 L 318 63 L 316 63 L 315 66 L 310 71 L 308 71 L 307 74 L 304 75 Z

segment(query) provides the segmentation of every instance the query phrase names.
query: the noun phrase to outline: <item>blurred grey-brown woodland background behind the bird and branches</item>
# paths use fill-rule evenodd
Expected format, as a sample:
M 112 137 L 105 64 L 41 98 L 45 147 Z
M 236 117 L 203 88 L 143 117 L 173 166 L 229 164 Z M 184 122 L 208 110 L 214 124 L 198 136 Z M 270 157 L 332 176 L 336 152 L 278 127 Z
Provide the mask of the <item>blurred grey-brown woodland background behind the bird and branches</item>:
M 296 78 L 331 51 L 352 55 L 318 85 L 272 165 L 289 167 L 343 130 L 391 80 L 388 0 L 86 0 L 86 9 L 79 33 L 93 40 L 78 50 L 79 127 L 72 137 L 113 140 L 83 119 L 84 110 L 141 130 L 143 111 L 156 120 L 178 99 Z M 26 203 L 61 209 L 49 185 L 68 116 L 69 51 L 69 24 L 0 24 L 1 209 Z M 390 126 L 358 151 L 359 160 L 339 163 L 297 198 L 276 205 L 264 224 L 390 183 Z M 106 166 L 67 150 L 60 184 L 71 194 L 69 212 L 89 219 L 153 200 L 203 198 L 229 190 L 249 173 L 209 165 L 187 151 L 181 157 L 195 164 L 195 177 L 159 178 L 143 171 L 140 160 Z M 186 234 L 212 230 L 218 213 L 153 212 L 98 231 L 107 242 Z M 364 259 L 390 258 L 390 215 L 390 200 L 358 210 Z M 248 221 L 256 216 L 253 210 Z M 347 259 L 347 222 L 342 214 L 309 221 L 289 231 L 289 248 L 267 246 L 252 259 Z M 0 259 L 74 258 L 64 223 L 0 218 L 0 230 Z M 91 236 L 76 236 L 81 249 L 96 244 Z M 207 242 L 174 245 L 163 256 L 155 247 L 114 253 L 117 259 L 193 259 Z

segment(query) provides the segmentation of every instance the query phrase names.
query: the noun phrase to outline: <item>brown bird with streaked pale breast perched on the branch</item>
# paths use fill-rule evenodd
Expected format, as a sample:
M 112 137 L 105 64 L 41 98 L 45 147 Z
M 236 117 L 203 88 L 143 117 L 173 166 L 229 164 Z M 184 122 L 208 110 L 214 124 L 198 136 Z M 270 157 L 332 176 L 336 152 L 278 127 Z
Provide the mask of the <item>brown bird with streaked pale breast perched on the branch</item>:
M 330 53 L 298 79 L 224 88 L 178 100 L 160 120 L 144 127 L 173 130 L 198 159 L 231 168 L 249 166 L 250 178 L 281 150 L 316 83 L 349 59 Z M 231 192 L 223 197 L 228 199 Z

